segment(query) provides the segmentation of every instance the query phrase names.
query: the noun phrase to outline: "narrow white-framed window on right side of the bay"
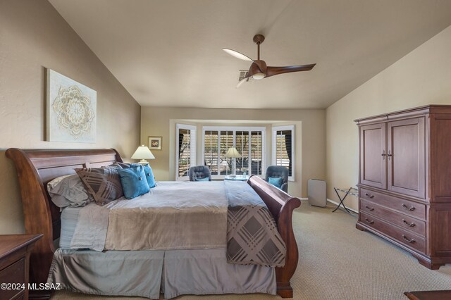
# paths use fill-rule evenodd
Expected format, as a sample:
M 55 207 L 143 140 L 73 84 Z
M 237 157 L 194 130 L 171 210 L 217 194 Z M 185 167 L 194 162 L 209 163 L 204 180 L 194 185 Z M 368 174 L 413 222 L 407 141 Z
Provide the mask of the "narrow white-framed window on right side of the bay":
M 288 179 L 295 180 L 295 125 L 273 127 L 273 165 L 288 168 Z

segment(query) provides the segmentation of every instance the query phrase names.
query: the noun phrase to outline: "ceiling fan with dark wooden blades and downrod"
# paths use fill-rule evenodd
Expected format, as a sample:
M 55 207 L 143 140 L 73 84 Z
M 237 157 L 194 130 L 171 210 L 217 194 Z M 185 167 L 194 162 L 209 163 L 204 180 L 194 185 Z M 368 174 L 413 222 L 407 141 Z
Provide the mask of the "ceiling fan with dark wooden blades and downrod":
M 240 58 L 244 61 L 252 61 L 252 65 L 247 71 L 246 76 L 238 82 L 237 87 L 240 87 L 243 82 L 247 81 L 249 77 L 254 78 L 255 80 L 263 79 L 266 77 L 271 77 L 274 75 L 279 75 L 283 73 L 290 72 L 300 72 L 300 71 L 309 71 L 313 69 L 316 63 L 311 65 L 288 65 L 285 67 L 269 67 L 266 65 L 265 61 L 261 61 L 260 59 L 260 44 L 264 42 L 265 37 L 263 35 L 254 35 L 254 43 L 257 44 L 257 60 L 254 61 L 252 58 L 245 56 L 245 54 L 241 54 L 238 51 L 232 49 L 223 49 L 231 56 L 235 56 L 236 58 Z

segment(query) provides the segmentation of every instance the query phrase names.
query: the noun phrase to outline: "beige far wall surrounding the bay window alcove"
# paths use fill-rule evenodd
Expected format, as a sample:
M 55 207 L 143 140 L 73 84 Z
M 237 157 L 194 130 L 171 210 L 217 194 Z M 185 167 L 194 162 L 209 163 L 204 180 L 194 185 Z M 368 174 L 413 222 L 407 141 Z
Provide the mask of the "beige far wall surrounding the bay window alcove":
M 268 120 L 292 121 L 296 125 L 295 182 L 290 182 L 293 196 L 307 196 L 307 180 L 326 175 L 326 121 L 325 111 L 266 110 L 266 109 L 214 109 L 214 108 L 162 108 L 142 107 L 141 142 L 147 144 L 149 135 L 163 137 L 163 149 L 152 151 L 151 162 L 157 180 L 175 179 L 175 123 L 176 120 L 236 120 L 227 125 L 258 125 Z M 240 120 L 252 120 L 255 124 L 242 124 Z M 259 123 L 260 122 L 260 123 Z M 221 123 L 221 122 L 218 122 Z M 199 127 L 202 128 L 202 127 Z M 271 135 L 266 139 L 271 141 Z M 268 144 L 269 146 L 269 144 Z M 271 149 L 271 147 L 269 148 Z M 199 156 L 198 156 L 199 157 Z M 267 157 L 271 161 L 271 156 Z M 299 159 L 300 158 L 300 159 Z M 268 162 L 268 160 L 267 160 Z

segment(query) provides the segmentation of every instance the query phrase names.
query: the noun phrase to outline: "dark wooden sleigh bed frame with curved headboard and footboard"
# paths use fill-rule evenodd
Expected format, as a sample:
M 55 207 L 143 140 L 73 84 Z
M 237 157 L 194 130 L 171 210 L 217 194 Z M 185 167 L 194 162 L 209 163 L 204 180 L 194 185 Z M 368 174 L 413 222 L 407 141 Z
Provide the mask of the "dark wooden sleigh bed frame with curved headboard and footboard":
M 47 282 L 56 247 L 54 241 L 61 232 L 61 212 L 47 193 L 47 182 L 61 175 L 73 174 L 74 168 L 98 168 L 113 162 L 122 162 L 114 149 L 89 150 L 21 150 L 8 149 L 6 156 L 16 165 L 20 193 L 23 199 L 25 231 L 27 234 L 43 233 L 31 254 L 30 282 Z M 285 242 L 285 265 L 275 268 L 277 294 L 283 298 L 293 296 L 290 279 L 295 273 L 298 250 L 292 232 L 292 211 L 300 205 L 299 199 L 268 185 L 257 176 L 247 184 L 264 201 L 274 220 L 280 237 Z M 135 251 L 130 251 L 135 253 Z M 37 292 L 37 291 L 30 291 Z M 38 296 L 49 298 L 49 292 Z M 32 294 L 32 293 L 31 293 Z

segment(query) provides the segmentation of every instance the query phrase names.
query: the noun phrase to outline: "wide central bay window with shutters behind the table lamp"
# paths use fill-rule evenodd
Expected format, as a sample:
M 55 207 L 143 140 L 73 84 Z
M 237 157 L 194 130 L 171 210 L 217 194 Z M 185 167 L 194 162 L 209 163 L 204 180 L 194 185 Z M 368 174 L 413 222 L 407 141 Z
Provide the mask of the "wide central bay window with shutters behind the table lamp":
M 227 150 L 232 146 L 242 155 L 235 159 L 237 174 L 262 175 L 264 127 L 207 126 L 203 132 L 204 164 L 210 168 L 212 177 L 222 178 L 232 173 L 233 158 L 226 158 Z

